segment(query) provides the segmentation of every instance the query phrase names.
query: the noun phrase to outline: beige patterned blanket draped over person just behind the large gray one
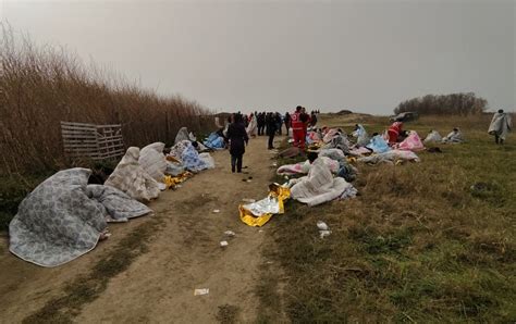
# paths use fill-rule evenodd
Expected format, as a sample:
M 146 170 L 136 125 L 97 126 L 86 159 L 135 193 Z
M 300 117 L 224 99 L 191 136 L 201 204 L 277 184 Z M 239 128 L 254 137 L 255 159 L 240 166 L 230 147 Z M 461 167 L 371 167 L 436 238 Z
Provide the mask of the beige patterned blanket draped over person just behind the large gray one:
M 114 187 L 138 201 L 150 201 L 159 196 L 159 184 L 138 162 L 139 149 L 131 147 L 106 180 L 106 186 Z

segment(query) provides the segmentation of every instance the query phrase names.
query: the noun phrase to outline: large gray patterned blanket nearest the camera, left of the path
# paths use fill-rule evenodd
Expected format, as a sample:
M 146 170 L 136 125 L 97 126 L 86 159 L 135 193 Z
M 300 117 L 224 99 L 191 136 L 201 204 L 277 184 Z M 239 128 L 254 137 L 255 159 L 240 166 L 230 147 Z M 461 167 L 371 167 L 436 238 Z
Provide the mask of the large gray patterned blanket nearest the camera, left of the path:
M 95 248 L 108 215 L 124 221 L 150 212 L 114 188 L 87 186 L 90 174 L 64 170 L 37 186 L 9 224 L 9 250 L 41 266 L 61 265 Z

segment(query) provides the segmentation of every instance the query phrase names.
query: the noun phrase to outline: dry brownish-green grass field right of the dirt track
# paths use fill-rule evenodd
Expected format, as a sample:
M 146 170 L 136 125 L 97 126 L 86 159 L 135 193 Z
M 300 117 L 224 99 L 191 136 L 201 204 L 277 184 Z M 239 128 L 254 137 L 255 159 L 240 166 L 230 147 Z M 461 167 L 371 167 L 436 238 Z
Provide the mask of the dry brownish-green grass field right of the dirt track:
M 421 136 L 458 126 L 467 142 L 422 152 L 421 163 L 359 165 L 356 199 L 316 208 L 288 202 L 271 223 L 278 250 L 266 253 L 285 274 L 280 290 L 291 321 L 516 321 L 516 145 L 513 135 L 495 146 L 489 119 L 409 123 Z M 346 130 L 354 122 L 321 119 Z M 389 125 L 365 122 L 370 132 Z M 318 220 L 331 236 L 319 238 Z M 278 300 L 278 285 L 263 276 L 263 306 Z M 270 310 L 263 321 L 279 314 Z

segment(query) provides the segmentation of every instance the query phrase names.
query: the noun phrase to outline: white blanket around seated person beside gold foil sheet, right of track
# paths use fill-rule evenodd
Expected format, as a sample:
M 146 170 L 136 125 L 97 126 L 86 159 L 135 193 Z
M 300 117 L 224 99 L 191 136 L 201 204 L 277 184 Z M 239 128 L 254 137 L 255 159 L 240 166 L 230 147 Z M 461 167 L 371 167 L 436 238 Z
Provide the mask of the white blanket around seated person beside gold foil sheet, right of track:
M 333 175 L 321 158 L 311 164 L 307 176 L 291 182 L 292 198 L 309 207 L 337 199 L 352 185 L 344 178 Z

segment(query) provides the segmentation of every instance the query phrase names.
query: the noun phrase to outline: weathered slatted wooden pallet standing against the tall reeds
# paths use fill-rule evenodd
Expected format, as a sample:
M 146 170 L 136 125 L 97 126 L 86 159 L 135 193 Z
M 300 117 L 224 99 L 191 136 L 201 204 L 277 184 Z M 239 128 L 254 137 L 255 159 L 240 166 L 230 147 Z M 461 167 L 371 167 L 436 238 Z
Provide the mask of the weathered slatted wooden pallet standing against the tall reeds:
M 123 157 L 125 146 L 122 125 L 95 125 L 61 122 L 61 135 L 66 157 L 95 161 Z

